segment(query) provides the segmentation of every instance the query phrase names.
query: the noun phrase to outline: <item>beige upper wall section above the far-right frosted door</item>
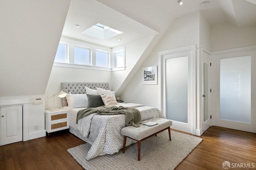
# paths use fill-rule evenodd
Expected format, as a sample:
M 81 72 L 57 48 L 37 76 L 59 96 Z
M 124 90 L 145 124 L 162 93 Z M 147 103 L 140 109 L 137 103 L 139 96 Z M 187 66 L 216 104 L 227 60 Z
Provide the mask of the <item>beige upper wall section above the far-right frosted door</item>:
M 256 45 L 256 26 L 236 27 L 229 23 L 211 27 L 211 51 Z

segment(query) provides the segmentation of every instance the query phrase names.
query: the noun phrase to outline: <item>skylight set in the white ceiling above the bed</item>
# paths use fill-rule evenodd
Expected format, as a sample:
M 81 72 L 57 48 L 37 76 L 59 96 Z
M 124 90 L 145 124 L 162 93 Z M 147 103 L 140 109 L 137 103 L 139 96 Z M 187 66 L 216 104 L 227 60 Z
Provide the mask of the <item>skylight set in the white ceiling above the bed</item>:
M 106 25 L 102 25 L 100 23 L 97 23 L 96 25 L 93 25 L 89 29 L 86 29 L 84 32 L 82 32 L 84 35 L 89 35 L 99 39 L 109 39 L 121 33 L 123 32 L 110 28 Z

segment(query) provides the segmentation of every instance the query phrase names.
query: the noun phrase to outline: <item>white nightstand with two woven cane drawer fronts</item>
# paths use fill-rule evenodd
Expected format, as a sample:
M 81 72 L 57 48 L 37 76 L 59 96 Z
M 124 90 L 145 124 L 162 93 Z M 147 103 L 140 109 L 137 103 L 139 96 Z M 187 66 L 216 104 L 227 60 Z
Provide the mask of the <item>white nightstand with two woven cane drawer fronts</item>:
M 45 112 L 46 136 L 51 137 L 51 133 L 67 129 L 69 131 L 69 115 L 67 109 L 57 111 L 46 110 Z

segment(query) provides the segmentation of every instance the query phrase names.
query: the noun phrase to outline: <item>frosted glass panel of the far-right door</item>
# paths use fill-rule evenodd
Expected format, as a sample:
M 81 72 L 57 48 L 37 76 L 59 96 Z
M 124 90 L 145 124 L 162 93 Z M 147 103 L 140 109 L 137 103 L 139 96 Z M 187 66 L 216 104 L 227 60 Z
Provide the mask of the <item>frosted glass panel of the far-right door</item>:
M 220 119 L 251 123 L 251 56 L 220 59 Z

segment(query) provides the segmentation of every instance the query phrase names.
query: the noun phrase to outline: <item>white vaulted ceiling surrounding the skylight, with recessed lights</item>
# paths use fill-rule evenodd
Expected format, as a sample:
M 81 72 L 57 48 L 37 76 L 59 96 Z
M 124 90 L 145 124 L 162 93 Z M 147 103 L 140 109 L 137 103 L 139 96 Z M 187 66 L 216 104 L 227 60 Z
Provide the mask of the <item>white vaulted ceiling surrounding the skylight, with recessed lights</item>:
M 256 25 L 256 0 L 71 0 L 62 36 L 116 47 L 148 35 L 164 33 L 172 22 L 201 11 L 211 25 L 228 22 L 236 27 Z M 96 23 L 124 33 L 102 41 L 81 34 Z M 76 28 L 74 25 L 81 25 Z M 118 41 L 117 39 L 122 39 Z

